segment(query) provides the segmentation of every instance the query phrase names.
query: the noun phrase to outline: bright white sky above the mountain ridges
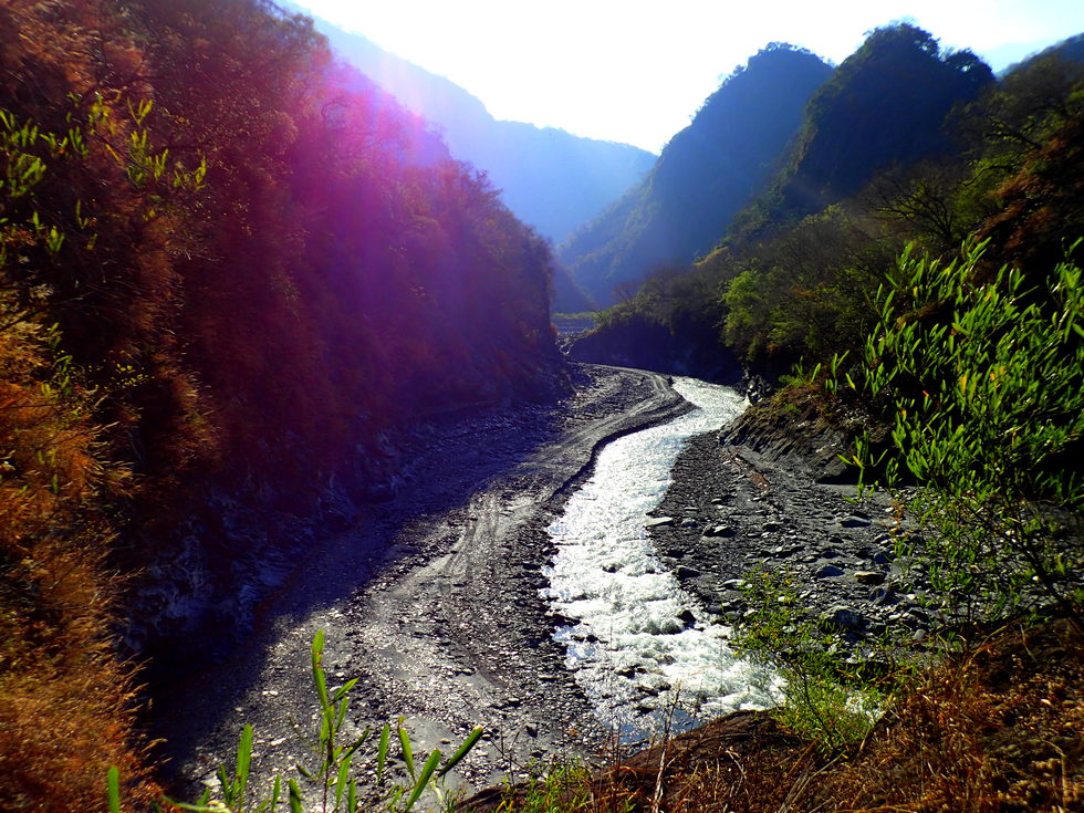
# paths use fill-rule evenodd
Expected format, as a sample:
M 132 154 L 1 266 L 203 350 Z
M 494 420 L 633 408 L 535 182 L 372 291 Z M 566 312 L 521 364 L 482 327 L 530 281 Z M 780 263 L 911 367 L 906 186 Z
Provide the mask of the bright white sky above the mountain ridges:
M 497 118 L 658 153 L 769 42 L 835 63 L 913 22 L 993 69 L 1084 32 L 1084 0 L 294 0 L 478 96 Z

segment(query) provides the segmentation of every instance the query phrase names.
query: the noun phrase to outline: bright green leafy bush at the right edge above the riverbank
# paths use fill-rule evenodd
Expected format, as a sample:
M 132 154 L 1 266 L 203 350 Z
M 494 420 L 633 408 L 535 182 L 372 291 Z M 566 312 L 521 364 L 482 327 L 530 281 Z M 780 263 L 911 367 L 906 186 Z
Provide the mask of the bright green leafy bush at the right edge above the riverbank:
M 901 467 L 918 481 L 910 508 L 932 530 L 920 555 L 958 632 L 1040 603 L 1078 616 L 1082 597 L 1081 270 L 1066 260 L 1036 284 L 1002 268 L 983 282 L 982 249 L 948 264 L 905 252 L 863 359 L 890 427 L 879 481 Z M 867 481 L 872 457 L 859 444 Z

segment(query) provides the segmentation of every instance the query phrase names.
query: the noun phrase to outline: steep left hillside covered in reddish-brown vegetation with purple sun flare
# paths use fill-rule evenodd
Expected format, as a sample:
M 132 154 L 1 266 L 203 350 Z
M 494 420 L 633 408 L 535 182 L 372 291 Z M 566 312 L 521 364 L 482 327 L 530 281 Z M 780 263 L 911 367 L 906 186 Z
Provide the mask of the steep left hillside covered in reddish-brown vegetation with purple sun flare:
M 212 486 L 315 511 L 382 432 L 560 386 L 550 254 L 272 3 L 12 0 L 0 42 L 0 807 L 111 764 L 138 804 L 125 574 Z

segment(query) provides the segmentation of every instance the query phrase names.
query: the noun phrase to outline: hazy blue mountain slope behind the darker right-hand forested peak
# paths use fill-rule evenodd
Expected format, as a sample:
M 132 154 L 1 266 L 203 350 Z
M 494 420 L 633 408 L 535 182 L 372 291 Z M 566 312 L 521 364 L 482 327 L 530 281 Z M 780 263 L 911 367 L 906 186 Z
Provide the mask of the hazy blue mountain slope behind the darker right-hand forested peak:
M 736 70 L 647 178 L 560 248 L 581 288 L 608 304 L 615 288 L 709 251 L 769 177 L 831 74 L 809 51 L 778 43 Z

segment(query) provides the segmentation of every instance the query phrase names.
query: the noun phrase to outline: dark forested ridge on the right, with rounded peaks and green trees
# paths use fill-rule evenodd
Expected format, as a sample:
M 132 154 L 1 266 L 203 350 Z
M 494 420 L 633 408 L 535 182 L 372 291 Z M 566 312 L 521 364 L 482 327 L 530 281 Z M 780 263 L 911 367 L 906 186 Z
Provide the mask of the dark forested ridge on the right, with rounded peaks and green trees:
M 1082 80 L 1057 48 L 994 81 L 911 25 L 874 32 L 814 94 L 772 185 L 720 247 L 655 274 L 573 356 L 703 375 L 740 362 L 775 379 L 802 357 L 861 346 L 908 242 L 941 256 L 992 237 L 991 260 L 1052 267 L 1084 233 L 1070 135 Z M 659 331 L 669 341 L 637 340 Z

